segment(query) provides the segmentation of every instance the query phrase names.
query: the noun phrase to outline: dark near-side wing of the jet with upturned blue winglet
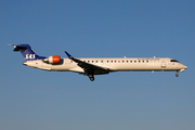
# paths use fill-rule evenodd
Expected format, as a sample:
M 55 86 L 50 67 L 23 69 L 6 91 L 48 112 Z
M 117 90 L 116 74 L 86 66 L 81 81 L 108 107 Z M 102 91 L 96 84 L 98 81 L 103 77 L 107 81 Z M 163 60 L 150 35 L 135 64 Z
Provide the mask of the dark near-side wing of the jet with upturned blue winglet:
M 82 61 L 80 61 L 78 58 L 73 57 L 66 51 L 65 51 L 65 53 L 67 54 L 68 58 L 70 58 L 74 62 L 76 62 L 77 65 L 79 67 L 81 67 L 87 75 L 101 75 L 101 74 L 108 74 L 109 73 L 108 68 L 104 68 L 104 67 L 101 67 L 101 66 L 96 66 L 96 65 L 93 65 L 93 64 L 89 64 L 89 63 L 82 62 Z

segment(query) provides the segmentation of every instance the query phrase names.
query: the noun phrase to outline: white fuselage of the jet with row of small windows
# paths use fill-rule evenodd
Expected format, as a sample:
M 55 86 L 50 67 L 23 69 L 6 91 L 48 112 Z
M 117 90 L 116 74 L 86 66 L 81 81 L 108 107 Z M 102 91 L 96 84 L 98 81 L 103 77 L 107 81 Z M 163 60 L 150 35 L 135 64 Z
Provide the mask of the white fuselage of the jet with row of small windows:
M 108 72 L 169 72 L 180 70 L 183 72 L 187 67 L 176 60 L 169 57 L 122 57 L 122 58 L 79 58 L 89 64 L 101 66 L 108 69 Z M 84 74 L 83 69 L 69 58 L 61 58 L 58 64 L 44 63 L 42 60 L 27 61 L 24 65 L 40 68 L 44 70 L 55 72 L 75 72 Z

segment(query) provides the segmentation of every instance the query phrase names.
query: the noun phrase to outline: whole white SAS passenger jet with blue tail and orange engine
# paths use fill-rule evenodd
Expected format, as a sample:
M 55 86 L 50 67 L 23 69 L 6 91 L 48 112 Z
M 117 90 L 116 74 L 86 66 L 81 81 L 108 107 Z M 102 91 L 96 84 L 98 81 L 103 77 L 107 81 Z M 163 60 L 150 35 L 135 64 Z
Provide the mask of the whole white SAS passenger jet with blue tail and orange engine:
M 21 51 L 25 58 L 23 65 L 43 70 L 74 72 L 86 75 L 91 81 L 94 75 L 114 72 L 184 72 L 187 66 L 170 57 L 88 57 L 76 58 L 65 51 L 68 58 L 60 55 L 39 56 L 29 44 L 13 46 L 13 51 Z

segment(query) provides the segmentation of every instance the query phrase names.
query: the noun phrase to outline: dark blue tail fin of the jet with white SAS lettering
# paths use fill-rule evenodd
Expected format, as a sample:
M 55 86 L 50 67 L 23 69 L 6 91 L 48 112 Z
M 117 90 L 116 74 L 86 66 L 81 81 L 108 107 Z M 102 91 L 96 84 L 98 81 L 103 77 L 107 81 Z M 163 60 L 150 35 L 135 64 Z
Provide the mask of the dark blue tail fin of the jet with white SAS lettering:
M 10 44 L 14 47 L 13 51 L 21 51 L 21 53 L 23 54 L 24 58 L 26 61 L 34 61 L 34 60 L 43 60 L 46 58 L 44 56 L 39 56 L 38 54 L 36 54 L 34 52 L 34 50 L 31 50 L 29 44 Z

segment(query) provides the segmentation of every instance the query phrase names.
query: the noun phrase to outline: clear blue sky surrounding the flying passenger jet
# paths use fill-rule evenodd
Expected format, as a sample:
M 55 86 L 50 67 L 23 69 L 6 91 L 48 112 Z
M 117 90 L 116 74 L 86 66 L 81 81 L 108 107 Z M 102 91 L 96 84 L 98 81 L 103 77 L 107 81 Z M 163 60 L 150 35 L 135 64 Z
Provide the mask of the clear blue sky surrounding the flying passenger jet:
M 194 130 L 193 0 L 0 0 L 0 129 Z M 42 56 L 172 57 L 176 73 L 88 77 L 22 65 L 8 43 Z

